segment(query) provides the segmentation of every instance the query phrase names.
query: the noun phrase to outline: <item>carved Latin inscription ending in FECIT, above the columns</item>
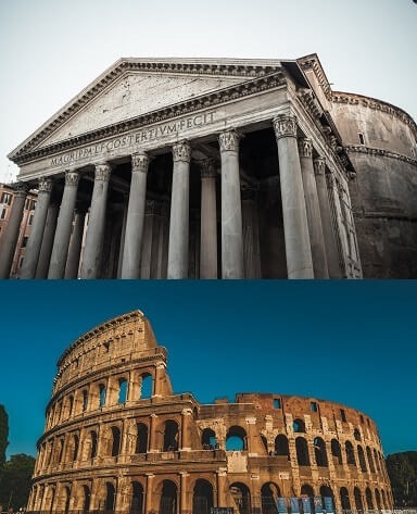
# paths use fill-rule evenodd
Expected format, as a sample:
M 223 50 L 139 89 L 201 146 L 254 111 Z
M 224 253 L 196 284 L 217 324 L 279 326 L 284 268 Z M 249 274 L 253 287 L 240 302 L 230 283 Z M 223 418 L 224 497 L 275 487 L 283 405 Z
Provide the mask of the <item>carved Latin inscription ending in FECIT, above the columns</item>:
M 208 125 L 214 122 L 214 112 L 195 114 L 194 116 L 178 120 L 177 122 L 166 123 L 165 125 L 159 125 L 157 127 L 146 128 L 127 136 L 116 137 L 104 142 L 91 145 L 90 147 L 85 147 L 80 148 L 79 150 L 63 153 L 62 155 L 51 159 L 51 166 L 67 164 L 78 161 L 79 159 L 92 158 L 94 155 L 100 155 L 103 152 L 112 152 L 113 150 L 117 150 L 119 148 L 129 148 L 142 142 L 154 141 L 166 136 L 179 134 L 181 130 Z

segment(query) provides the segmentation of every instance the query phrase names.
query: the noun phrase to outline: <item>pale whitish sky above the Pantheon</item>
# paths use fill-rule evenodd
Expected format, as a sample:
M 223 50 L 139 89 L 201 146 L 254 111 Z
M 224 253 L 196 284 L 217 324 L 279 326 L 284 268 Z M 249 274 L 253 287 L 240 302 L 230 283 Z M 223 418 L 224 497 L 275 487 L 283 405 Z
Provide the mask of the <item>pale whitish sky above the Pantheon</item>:
M 0 180 L 7 154 L 121 57 L 295 59 L 333 90 L 417 118 L 413 0 L 0 0 Z

